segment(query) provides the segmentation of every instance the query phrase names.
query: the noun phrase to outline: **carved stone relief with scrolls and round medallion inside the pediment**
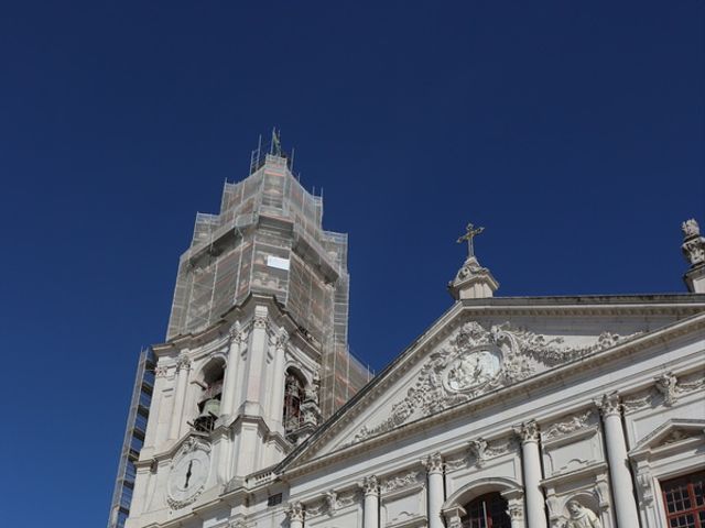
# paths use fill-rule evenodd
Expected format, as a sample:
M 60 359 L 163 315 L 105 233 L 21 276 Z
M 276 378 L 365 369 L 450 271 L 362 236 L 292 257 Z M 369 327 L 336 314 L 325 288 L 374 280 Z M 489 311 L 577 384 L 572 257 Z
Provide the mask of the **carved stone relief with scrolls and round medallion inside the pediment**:
M 489 329 L 467 322 L 446 346 L 431 354 L 416 383 L 392 406 L 390 416 L 377 426 L 364 426 L 350 444 L 512 385 L 534 374 L 541 365 L 567 363 L 626 339 L 604 332 L 592 345 L 568 346 L 563 338 L 512 329 L 508 322 Z

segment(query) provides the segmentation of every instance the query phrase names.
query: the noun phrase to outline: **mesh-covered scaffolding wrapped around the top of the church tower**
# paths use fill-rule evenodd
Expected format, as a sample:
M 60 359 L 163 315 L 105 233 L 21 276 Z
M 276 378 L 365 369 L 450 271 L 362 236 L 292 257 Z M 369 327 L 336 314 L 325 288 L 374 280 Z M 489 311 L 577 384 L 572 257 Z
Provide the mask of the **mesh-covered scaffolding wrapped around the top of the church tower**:
M 370 378 L 349 352 L 348 239 L 323 229 L 323 198 L 291 172 L 279 135 L 260 141 L 250 175 L 225 183 L 218 215 L 196 216 L 181 256 L 166 339 L 216 322 L 251 293 L 274 296 L 321 351 L 324 417 Z

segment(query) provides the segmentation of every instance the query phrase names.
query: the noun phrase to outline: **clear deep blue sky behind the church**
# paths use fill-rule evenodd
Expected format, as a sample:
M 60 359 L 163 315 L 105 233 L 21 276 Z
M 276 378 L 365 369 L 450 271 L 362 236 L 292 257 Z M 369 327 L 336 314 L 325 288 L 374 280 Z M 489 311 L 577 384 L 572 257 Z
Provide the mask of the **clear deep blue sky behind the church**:
M 247 4 L 247 6 L 246 6 Z M 683 293 L 705 222 L 704 4 L 4 1 L 0 525 L 107 522 L 135 362 L 196 211 L 281 128 L 350 234 L 381 369 L 451 306 L 465 224 L 498 295 Z

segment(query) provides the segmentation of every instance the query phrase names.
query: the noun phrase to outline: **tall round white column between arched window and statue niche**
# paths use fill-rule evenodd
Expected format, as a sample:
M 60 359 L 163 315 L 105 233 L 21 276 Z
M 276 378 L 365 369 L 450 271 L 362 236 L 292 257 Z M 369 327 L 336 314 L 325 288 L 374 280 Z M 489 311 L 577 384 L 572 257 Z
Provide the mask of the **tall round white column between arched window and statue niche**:
M 527 421 L 514 428 L 521 438 L 521 461 L 524 473 L 527 520 L 529 528 L 546 528 L 546 514 L 541 491 L 541 455 L 539 453 L 539 425 Z

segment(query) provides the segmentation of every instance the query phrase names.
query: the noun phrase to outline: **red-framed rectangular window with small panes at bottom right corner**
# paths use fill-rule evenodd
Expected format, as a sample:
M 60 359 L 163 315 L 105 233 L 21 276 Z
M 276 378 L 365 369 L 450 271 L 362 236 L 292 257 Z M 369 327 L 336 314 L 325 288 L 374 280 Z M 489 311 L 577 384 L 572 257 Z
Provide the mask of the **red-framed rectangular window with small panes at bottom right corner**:
M 705 528 L 705 472 L 661 483 L 670 528 Z

